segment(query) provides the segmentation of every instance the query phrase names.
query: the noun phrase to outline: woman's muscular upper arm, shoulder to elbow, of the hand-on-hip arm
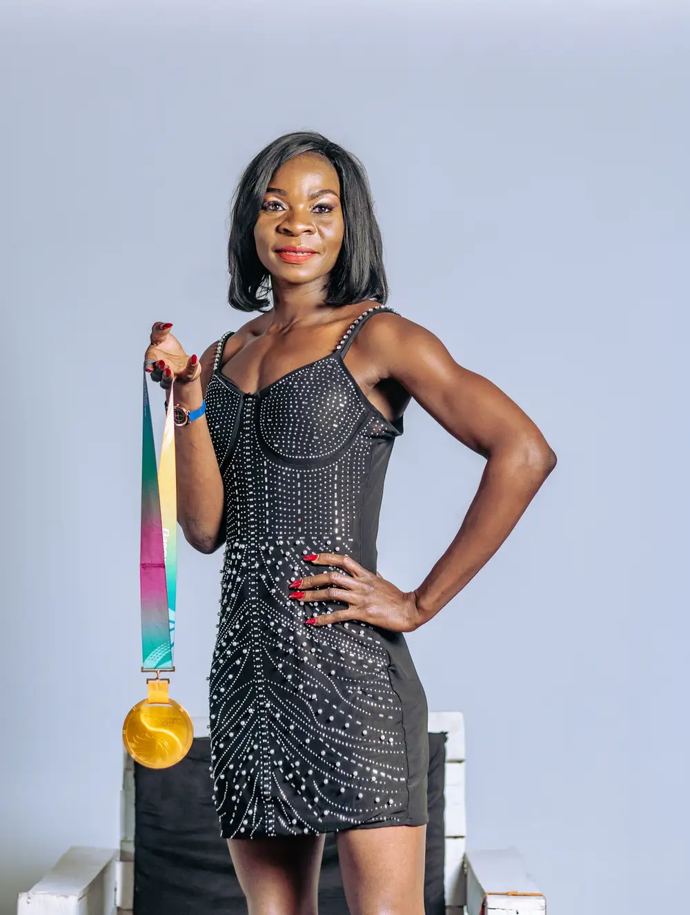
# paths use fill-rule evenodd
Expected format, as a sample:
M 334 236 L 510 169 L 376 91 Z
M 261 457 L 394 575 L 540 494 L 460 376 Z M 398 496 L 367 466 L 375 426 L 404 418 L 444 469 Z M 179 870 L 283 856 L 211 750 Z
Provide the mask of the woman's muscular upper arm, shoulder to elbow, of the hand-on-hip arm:
M 405 320 L 389 337 L 387 361 L 389 376 L 452 436 L 483 457 L 507 443 L 514 447 L 522 440 L 529 447 L 543 440 L 515 401 L 488 378 L 456 362 L 430 330 Z

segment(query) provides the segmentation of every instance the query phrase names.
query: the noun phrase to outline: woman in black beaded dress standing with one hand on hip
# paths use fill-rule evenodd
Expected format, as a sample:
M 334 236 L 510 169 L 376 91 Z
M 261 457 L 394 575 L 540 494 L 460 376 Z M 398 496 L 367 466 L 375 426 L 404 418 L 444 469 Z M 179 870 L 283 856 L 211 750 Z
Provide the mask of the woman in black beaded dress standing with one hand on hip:
M 403 633 L 477 574 L 556 456 L 386 306 L 365 171 L 324 136 L 284 135 L 252 160 L 228 264 L 230 305 L 259 314 L 200 360 L 155 324 L 145 354 L 168 393 L 175 380 L 186 539 L 226 544 L 209 677 L 220 834 L 251 915 L 316 911 L 326 832 L 353 915 L 421 915 L 427 704 Z M 377 574 L 376 539 L 410 397 L 487 463 L 451 545 L 404 592 Z

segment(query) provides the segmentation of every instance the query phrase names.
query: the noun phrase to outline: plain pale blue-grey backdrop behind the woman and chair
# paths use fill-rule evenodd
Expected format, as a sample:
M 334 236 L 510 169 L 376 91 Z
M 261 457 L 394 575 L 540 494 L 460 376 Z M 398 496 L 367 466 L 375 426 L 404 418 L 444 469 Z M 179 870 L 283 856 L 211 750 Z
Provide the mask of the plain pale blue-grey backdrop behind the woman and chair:
M 117 842 L 147 328 L 201 352 L 244 320 L 224 304 L 229 198 L 301 128 L 363 159 L 390 304 L 558 456 L 409 637 L 430 708 L 466 715 L 469 845 L 518 845 L 552 915 L 686 886 L 687 14 L 5 0 L 0 911 L 67 845 Z M 419 584 L 482 469 L 411 405 L 382 574 Z M 183 545 L 173 694 L 195 715 L 220 563 Z

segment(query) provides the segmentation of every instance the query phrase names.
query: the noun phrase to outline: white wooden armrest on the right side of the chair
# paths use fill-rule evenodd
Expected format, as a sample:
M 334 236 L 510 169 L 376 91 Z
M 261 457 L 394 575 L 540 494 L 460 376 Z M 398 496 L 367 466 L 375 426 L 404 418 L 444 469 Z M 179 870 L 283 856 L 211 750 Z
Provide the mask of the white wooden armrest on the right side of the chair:
M 526 915 L 546 910 L 547 900 L 515 848 L 468 852 L 467 915 Z

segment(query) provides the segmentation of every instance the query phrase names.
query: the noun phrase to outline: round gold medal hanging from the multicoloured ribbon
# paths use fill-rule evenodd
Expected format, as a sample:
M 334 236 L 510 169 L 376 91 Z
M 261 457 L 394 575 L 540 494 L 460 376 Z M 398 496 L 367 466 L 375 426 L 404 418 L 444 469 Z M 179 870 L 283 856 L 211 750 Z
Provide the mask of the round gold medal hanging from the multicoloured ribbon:
M 192 746 L 194 725 L 186 709 L 168 696 L 169 680 L 147 680 L 148 698 L 134 705 L 122 725 L 122 740 L 133 759 L 148 769 L 167 769 Z

